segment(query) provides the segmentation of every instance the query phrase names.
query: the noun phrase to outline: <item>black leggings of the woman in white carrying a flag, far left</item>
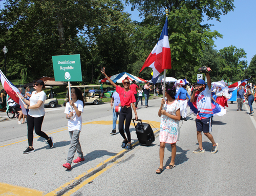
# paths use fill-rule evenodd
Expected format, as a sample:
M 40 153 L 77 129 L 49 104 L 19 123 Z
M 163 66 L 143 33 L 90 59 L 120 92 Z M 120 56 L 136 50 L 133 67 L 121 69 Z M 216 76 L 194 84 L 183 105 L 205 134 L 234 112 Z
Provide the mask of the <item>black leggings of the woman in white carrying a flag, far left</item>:
M 41 127 L 42 127 L 42 121 L 44 121 L 44 117 L 45 116 L 41 116 L 38 118 L 34 118 L 30 115 L 28 115 L 28 141 L 29 141 L 29 146 L 33 146 L 33 139 L 34 139 L 34 135 L 33 135 L 33 131 L 34 131 L 34 127 L 35 127 L 35 133 L 40 136 L 45 138 L 46 140 L 49 139 L 49 137 L 46 135 L 46 133 L 41 131 Z

